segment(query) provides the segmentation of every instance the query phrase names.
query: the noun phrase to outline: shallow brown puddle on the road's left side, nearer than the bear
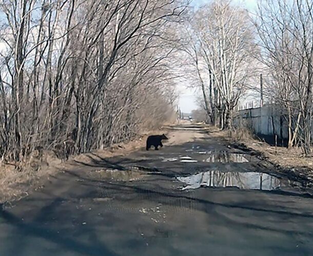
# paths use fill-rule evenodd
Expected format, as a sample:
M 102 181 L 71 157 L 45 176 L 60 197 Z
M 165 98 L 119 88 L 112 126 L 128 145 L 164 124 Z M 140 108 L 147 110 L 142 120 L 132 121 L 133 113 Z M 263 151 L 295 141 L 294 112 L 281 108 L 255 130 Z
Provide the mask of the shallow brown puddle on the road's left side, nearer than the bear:
M 101 169 L 94 173 L 102 179 L 115 181 L 136 181 L 148 176 L 147 173 L 140 170 Z

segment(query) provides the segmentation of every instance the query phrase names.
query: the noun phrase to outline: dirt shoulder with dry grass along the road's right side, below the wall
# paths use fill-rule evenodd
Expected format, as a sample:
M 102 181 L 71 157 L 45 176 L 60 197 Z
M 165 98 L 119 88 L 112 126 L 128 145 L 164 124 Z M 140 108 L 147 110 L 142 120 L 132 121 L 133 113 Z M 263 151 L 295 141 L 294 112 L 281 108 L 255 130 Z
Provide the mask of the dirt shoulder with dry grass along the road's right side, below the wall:
M 229 133 L 210 127 L 210 136 L 220 139 L 232 148 L 244 151 L 263 160 L 265 168 L 300 182 L 303 187 L 313 187 L 313 158 L 303 157 L 298 148 L 270 146 L 253 138 L 248 131 Z

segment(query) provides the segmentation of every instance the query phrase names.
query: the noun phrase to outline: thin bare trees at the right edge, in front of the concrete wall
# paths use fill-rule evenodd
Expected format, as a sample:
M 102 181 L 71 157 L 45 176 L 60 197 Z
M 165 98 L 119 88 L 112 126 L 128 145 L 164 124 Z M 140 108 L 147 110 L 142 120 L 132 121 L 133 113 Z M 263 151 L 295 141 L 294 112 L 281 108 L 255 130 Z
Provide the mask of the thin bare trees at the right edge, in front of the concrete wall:
M 286 113 L 288 146 L 299 141 L 305 154 L 311 144 L 312 5 L 307 0 L 261 1 L 256 20 L 262 61 L 270 71 L 268 91 Z

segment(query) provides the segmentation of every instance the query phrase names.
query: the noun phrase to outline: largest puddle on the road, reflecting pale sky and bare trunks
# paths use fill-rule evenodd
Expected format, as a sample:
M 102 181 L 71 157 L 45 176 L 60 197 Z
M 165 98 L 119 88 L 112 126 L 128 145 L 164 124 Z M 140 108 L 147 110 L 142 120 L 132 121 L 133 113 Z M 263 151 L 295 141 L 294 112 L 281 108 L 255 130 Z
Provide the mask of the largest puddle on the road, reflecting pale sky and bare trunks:
M 282 181 L 265 173 L 237 173 L 211 170 L 188 177 L 178 177 L 186 184 L 182 188 L 196 189 L 203 187 L 238 187 L 241 189 L 273 190 L 282 186 Z

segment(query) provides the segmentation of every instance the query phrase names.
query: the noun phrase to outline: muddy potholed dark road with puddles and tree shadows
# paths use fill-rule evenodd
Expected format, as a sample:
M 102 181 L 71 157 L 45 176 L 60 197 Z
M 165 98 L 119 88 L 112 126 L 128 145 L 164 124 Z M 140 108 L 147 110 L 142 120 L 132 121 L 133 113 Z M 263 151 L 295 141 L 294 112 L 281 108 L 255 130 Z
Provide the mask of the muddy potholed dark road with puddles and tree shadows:
M 313 200 L 297 183 L 201 127 L 169 136 L 159 151 L 77 161 L 4 207 L 0 255 L 313 254 Z

